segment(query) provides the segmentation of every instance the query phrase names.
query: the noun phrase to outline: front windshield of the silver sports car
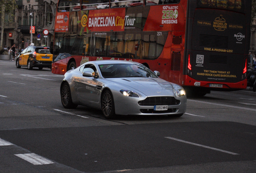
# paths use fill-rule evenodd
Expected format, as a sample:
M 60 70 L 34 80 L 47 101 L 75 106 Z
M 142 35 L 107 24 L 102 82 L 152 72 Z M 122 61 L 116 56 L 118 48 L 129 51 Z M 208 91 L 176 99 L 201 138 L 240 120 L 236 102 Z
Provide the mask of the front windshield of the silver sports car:
M 154 72 L 142 64 L 101 64 L 99 68 L 104 78 L 157 78 Z

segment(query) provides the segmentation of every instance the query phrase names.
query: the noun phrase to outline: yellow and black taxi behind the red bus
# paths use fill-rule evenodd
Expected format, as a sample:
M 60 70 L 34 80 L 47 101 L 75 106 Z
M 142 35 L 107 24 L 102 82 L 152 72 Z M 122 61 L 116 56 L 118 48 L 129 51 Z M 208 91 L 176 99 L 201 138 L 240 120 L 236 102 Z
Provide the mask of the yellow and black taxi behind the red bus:
M 21 66 L 26 66 L 29 70 L 33 67 L 38 67 L 40 70 L 43 67 L 52 68 L 52 54 L 50 48 L 28 46 L 17 57 L 16 67 L 21 68 Z

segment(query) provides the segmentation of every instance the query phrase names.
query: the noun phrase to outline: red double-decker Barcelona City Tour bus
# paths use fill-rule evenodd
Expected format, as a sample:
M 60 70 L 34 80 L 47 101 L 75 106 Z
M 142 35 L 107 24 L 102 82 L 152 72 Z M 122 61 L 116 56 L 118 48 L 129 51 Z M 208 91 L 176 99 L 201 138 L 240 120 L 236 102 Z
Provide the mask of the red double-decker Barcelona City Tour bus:
M 129 60 L 205 95 L 246 89 L 251 0 L 59 0 L 52 73 Z

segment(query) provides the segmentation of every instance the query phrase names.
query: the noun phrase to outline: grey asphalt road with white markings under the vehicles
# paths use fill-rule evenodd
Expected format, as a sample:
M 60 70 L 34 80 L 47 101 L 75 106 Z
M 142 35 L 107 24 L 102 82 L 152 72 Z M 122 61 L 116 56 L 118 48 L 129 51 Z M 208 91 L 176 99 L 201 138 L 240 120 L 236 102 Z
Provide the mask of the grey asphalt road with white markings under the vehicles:
M 60 102 L 63 76 L 0 61 L 0 173 L 254 173 L 256 95 L 188 98 L 180 118 L 122 116 Z

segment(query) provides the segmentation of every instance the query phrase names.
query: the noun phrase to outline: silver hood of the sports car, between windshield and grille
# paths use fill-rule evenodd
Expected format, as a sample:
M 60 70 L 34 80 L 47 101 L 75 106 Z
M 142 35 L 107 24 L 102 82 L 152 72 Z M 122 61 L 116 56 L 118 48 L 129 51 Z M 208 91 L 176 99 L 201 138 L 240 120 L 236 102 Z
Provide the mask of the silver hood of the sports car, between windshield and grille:
M 108 78 L 123 85 L 120 89 L 133 88 L 147 96 L 173 96 L 171 84 L 161 78 Z M 125 88 L 128 86 L 129 88 Z

